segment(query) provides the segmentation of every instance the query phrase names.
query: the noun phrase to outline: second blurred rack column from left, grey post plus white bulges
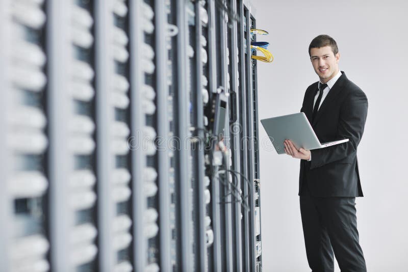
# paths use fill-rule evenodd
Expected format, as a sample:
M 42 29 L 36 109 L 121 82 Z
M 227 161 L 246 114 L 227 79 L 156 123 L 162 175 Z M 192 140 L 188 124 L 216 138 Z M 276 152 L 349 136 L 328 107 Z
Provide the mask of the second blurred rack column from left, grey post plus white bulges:
M 48 1 L 47 11 L 51 269 L 86 271 L 98 251 L 93 6 Z

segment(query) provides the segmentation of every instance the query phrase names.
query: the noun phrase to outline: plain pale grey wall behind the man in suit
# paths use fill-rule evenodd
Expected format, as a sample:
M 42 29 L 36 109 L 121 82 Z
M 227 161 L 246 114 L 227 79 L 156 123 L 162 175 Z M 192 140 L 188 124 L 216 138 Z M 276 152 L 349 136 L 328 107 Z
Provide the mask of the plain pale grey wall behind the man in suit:
M 259 62 L 260 119 L 299 112 L 318 80 L 311 40 L 332 36 L 340 69 L 368 97 L 358 158 L 365 197 L 356 199 L 360 242 L 370 272 L 408 271 L 408 2 L 252 0 L 257 26 L 275 57 Z M 266 133 L 260 124 L 260 137 Z M 299 160 L 261 147 L 264 271 L 310 271 L 299 211 Z M 337 267 L 336 271 L 340 271 Z

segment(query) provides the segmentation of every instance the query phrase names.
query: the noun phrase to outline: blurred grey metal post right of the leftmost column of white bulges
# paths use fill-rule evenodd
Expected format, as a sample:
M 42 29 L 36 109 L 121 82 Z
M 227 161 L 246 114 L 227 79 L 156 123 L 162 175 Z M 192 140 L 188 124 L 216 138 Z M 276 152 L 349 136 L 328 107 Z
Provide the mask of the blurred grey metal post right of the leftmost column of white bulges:
M 54 203 L 50 206 L 50 241 L 51 247 L 54 249 L 50 252 L 51 264 L 57 270 L 69 271 L 71 265 L 69 263 L 69 255 L 67 244 L 69 244 L 68 235 L 61 235 L 62 233 L 69 233 L 73 226 L 73 214 L 69 210 L 68 204 L 68 176 L 69 169 L 72 169 L 72 161 L 67 161 L 68 150 L 68 133 L 65 125 L 68 120 L 67 116 L 69 106 L 67 106 L 68 89 L 66 71 L 72 68 L 68 61 L 68 56 L 72 53 L 66 53 L 60 56 L 59 50 L 64 52 L 71 52 L 70 44 L 65 41 L 65 36 L 68 32 L 67 14 L 70 14 L 70 3 L 62 3 L 59 1 L 50 1 L 48 3 L 48 101 L 49 112 L 53 113 L 49 117 L 49 177 L 50 177 L 50 202 Z M 63 23 L 61 23 L 63 18 Z M 57 25 L 59 25 L 57 27 Z M 61 65 L 63 63 L 64 65 Z M 64 122 L 62 121 L 64 120 Z

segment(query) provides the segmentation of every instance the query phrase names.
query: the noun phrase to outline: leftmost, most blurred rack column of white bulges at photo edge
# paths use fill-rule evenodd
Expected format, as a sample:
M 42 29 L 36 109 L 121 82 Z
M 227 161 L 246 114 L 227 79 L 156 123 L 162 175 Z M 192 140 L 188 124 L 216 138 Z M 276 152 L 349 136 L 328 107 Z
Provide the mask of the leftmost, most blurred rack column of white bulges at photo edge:
M 2 1 L 2 270 L 49 269 L 46 29 L 43 3 Z M 25 11 L 32 16 L 25 16 Z M 2 234 L 3 236 L 3 234 Z

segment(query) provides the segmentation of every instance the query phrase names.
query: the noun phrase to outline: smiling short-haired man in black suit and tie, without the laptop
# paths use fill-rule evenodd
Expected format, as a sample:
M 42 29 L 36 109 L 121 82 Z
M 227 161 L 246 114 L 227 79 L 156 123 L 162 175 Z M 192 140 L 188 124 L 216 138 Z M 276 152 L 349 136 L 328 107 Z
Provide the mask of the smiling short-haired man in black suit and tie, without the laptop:
M 313 272 L 367 271 L 357 230 L 355 197 L 362 197 L 357 147 L 363 135 L 368 101 L 364 92 L 339 70 L 336 41 L 314 38 L 309 55 L 320 81 L 308 87 L 301 112 L 321 143 L 348 142 L 315 150 L 296 150 L 286 140 L 285 152 L 300 158 L 299 196 L 304 243 Z

